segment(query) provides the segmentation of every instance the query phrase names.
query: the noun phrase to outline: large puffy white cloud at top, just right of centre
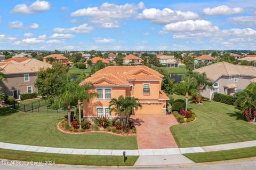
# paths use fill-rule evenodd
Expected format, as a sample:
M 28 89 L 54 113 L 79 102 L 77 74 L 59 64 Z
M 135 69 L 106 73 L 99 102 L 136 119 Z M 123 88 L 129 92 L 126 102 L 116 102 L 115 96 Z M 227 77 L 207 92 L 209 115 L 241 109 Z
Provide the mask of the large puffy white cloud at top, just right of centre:
M 163 10 L 159 10 L 155 8 L 145 9 L 137 15 L 138 19 L 151 20 L 155 23 L 161 23 L 161 24 L 184 21 L 184 20 L 193 20 L 193 19 L 197 19 L 198 17 L 199 15 L 195 12 L 173 11 L 169 8 L 165 8 Z

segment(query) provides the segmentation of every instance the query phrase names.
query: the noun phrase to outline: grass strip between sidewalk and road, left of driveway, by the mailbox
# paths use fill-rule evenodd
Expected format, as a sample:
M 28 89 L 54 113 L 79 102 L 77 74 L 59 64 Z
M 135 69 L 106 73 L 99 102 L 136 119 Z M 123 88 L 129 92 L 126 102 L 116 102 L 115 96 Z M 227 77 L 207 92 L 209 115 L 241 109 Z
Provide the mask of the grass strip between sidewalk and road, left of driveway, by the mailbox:
M 55 164 L 71 165 L 134 165 L 138 156 L 127 156 L 124 163 L 123 156 L 93 156 L 68 155 L 58 153 L 40 153 L 9 149 L 0 149 L 0 158 L 23 161 L 54 161 Z

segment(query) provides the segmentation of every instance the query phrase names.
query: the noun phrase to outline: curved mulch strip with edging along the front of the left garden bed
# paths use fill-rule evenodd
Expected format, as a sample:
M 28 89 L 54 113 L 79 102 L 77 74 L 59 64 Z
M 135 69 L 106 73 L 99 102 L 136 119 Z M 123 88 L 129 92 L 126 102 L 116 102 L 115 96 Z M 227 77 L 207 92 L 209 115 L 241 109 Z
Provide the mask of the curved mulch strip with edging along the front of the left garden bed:
M 84 132 L 80 132 L 79 129 L 77 129 L 77 132 L 74 132 L 74 131 L 68 131 L 67 129 L 63 128 L 61 125 L 61 122 L 58 123 L 57 127 L 61 132 L 69 133 L 69 134 L 83 134 L 83 133 L 90 133 L 90 132 L 100 132 L 100 133 L 108 133 L 108 134 L 113 134 L 113 135 L 118 135 L 118 136 L 136 135 L 135 133 L 132 133 L 132 129 L 130 129 L 129 133 L 124 133 L 123 130 L 121 130 L 121 133 L 114 133 L 111 131 L 108 132 L 106 129 L 104 129 L 104 131 L 94 131 L 93 128 L 85 129 Z M 111 127 L 111 129 L 112 129 L 112 127 Z

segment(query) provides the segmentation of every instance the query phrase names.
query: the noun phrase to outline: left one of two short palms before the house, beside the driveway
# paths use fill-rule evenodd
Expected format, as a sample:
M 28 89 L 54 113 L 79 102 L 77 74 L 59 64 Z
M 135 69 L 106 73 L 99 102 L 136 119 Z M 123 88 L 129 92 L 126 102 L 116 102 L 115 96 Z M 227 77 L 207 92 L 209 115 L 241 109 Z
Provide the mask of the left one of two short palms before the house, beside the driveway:
M 110 112 L 113 111 L 113 110 L 116 111 L 117 116 L 120 117 L 122 127 L 123 127 L 122 113 L 124 112 L 124 108 L 122 107 L 123 101 L 124 101 L 124 97 L 121 95 L 121 96 L 119 96 L 118 99 L 113 98 L 109 102 L 109 108 L 111 108 Z

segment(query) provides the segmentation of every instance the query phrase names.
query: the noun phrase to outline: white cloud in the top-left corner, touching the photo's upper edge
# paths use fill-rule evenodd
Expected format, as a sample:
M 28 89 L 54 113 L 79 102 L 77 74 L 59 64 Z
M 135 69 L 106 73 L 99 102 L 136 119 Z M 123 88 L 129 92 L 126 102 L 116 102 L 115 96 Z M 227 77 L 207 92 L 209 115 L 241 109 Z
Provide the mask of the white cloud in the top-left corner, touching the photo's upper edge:
M 51 8 L 51 4 L 49 2 L 37 0 L 29 6 L 26 4 L 16 5 L 11 10 L 11 13 L 29 14 L 29 13 L 46 11 L 46 10 L 49 10 L 50 8 Z

